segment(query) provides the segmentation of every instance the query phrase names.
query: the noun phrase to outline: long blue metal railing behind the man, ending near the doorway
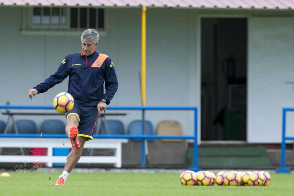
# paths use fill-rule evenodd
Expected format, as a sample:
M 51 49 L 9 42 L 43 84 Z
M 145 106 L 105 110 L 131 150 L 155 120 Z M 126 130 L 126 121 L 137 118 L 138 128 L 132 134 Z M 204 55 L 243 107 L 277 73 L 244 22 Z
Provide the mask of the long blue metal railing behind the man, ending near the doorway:
M 0 105 L 0 109 L 54 109 L 53 106 L 44 105 Z M 145 145 L 144 139 L 193 139 L 193 167 L 189 168 L 193 171 L 199 171 L 198 168 L 198 141 L 197 141 L 197 107 L 163 107 L 163 106 L 109 106 L 107 110 L 193 110 L 194 111 L 194 135 L 94 135 L 94 138 L 113 138 L 113 139 L 142 139 L 142 153 L 141 153 L 141 166 L 145 167 Z M 145 114 L 145 112 L 144 112 Z M 143 127 L 142 127 L 143 129 Z M 66 138 L 66 134 L 0 134 L 0 137 L 40 137 L 40 138 Z

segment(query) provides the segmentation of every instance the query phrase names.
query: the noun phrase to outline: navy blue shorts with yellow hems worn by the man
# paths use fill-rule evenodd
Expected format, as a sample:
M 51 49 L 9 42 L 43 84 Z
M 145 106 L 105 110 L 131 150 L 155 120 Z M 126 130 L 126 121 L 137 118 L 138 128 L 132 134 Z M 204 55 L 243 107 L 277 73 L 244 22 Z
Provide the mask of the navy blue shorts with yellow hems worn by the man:
M 76 115 L 78 117 L 78 136 L 88 137 L 88 140 L 93 139 L 93 132 L 98 119 L 97 106 L 83 107 L 74 104 L 74 108 L 66 113 L 66 120 L 70 115 Z

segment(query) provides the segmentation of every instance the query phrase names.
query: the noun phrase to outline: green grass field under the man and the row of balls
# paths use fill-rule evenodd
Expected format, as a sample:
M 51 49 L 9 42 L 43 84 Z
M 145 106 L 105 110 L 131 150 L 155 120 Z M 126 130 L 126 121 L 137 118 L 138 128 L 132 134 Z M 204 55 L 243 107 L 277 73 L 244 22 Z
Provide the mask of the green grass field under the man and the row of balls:
M 179 174 L 72 173 L 64 186 L 55 186 L 59 173 L 10 172 L 0 177 L 0 195 L 294 195 L 293 174 L 271 174 L 268 187 L 182 186 Z M 49 180 L 49 177 L 50 180 Z

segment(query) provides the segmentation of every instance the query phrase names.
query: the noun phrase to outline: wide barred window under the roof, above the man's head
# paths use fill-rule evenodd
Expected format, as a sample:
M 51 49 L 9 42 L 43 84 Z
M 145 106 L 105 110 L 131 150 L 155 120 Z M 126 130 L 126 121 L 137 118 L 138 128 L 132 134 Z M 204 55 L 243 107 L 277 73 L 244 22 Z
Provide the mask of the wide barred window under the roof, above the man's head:
M 22 30 L 82 31 L 105 30 L 102 8 L 26 7 Z

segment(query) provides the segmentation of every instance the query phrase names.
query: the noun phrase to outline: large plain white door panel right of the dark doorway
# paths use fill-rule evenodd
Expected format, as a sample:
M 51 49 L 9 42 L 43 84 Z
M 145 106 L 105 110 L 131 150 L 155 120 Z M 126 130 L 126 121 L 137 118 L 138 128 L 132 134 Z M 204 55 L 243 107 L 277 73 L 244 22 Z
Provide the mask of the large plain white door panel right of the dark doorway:
M 293 29 L 293 18 L 248 19 L 249 143 L 281 142 L 282 108 L 294 106 Z M 289 119 L 292 136 L 293 125 Z

